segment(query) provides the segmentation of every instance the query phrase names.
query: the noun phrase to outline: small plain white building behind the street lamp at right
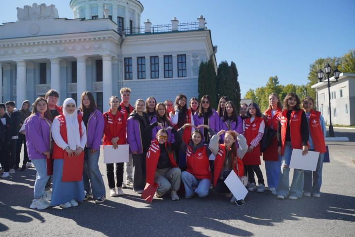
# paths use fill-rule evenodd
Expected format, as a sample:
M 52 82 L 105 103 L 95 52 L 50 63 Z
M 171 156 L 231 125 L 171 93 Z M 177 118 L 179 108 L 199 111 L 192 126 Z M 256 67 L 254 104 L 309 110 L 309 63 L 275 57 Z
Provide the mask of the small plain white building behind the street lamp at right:
M 338 81 L 330 78 L 332 124 L 355 124 L 355 74 L 341 73 Z M 317 93 L 317 110 L 329 124 L 329 96 L 326 81 L 312 85 Z

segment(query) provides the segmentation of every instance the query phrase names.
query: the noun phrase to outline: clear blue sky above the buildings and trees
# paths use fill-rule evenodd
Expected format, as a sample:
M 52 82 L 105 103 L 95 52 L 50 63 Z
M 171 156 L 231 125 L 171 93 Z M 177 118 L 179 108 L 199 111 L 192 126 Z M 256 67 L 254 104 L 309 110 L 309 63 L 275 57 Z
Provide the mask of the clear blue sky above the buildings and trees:
M 16 21 L 16 7 L 54 4 L 72 18 L 70 0 L 2 0 L 0 22 Z M 234 61 L 242 97 L 277 75 L 282 84 L 307 83 L 309 65 L 355 48 L 355 0 L 141 0 L 142 22 L 195 22 L 204 15 L 218 45 L 217 62 Z M 158 13 L 158 14 L 157 14 Z

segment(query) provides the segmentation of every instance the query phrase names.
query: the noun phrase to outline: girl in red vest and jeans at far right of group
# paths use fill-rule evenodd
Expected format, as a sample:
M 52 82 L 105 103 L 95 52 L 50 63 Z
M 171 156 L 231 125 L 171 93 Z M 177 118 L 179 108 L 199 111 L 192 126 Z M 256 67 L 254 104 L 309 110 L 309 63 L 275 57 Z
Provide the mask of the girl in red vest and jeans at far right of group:
M 319 152 L 319 158 L 317 163 L 316 171 L 304 171 L 304 186 L 303 186 L 303 196 L 320 197 L 320 186 L 322 181 L 322 168 L 325 148 L 325 136 L 326 128 L 324 118 L 320 115 L 320 112 L 314 111 L 314 101 L 311 97 L 306 96 L 303 99 L 303 111 L 306 113 L 308 128 L 310 132 L 309 136 L 309 146 L 311 151 Z M 312 185 L 313 176 L 313 185 Z

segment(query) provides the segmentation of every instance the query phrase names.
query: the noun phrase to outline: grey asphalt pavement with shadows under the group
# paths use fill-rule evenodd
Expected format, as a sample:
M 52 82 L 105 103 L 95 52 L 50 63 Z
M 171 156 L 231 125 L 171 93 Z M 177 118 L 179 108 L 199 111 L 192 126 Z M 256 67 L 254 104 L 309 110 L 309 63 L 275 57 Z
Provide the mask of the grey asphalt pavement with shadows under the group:
M 339 132 L 339 131 L 336 131 Z M 341 133 L 341 131 L 340 131 Z M 336 133 L 337 134 L 337 133 Z M 339 134 L 339 133 L 338 133 Z M 355 134 L 355 133 L 354 133 Z M 340 134 L 342 135 L 342 134 Z M 343 135 L 342 135 L 343 136 Z M 108 197 L 106 165 L 99 164 L 107 200 L 68 209 L 30 209 L 35 169 L 0 179 L 0 237 L 42 236 L 355 236 L 355 142 L 327 142 L 321 197 L 278 200 L 269 191 L 247 195 L 246 205 L 210 190 L 205 198 L 147 203 L 132 187 Z M 263 163 L 263 162 L 262 162 Z M 261 165 L 266 180 L 264 165 Z

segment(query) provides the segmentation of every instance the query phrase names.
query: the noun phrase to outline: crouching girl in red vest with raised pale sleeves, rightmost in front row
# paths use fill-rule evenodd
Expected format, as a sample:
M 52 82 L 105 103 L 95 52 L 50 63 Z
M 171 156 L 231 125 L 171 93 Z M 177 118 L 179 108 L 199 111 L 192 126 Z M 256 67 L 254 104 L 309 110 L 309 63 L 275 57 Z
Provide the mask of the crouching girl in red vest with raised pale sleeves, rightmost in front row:
M 224 143 L 218 145 L 219 136 L 224 134 Z M 236 146 L 238 140 L 239 148 Z M 247 140 L 236 131 L 220 130 L 213 135 L 209 145 L 210 150 L 215 156 L 213 165 L 213 187 L 218 193 L 230 193 L 224 180 L 230 172 L 234 170 L 242 183 L 247 186 L 248 178 L 244 175 L 243 157 L 248 150 Z M 233 196 L 231 203 L 237 199 Z

